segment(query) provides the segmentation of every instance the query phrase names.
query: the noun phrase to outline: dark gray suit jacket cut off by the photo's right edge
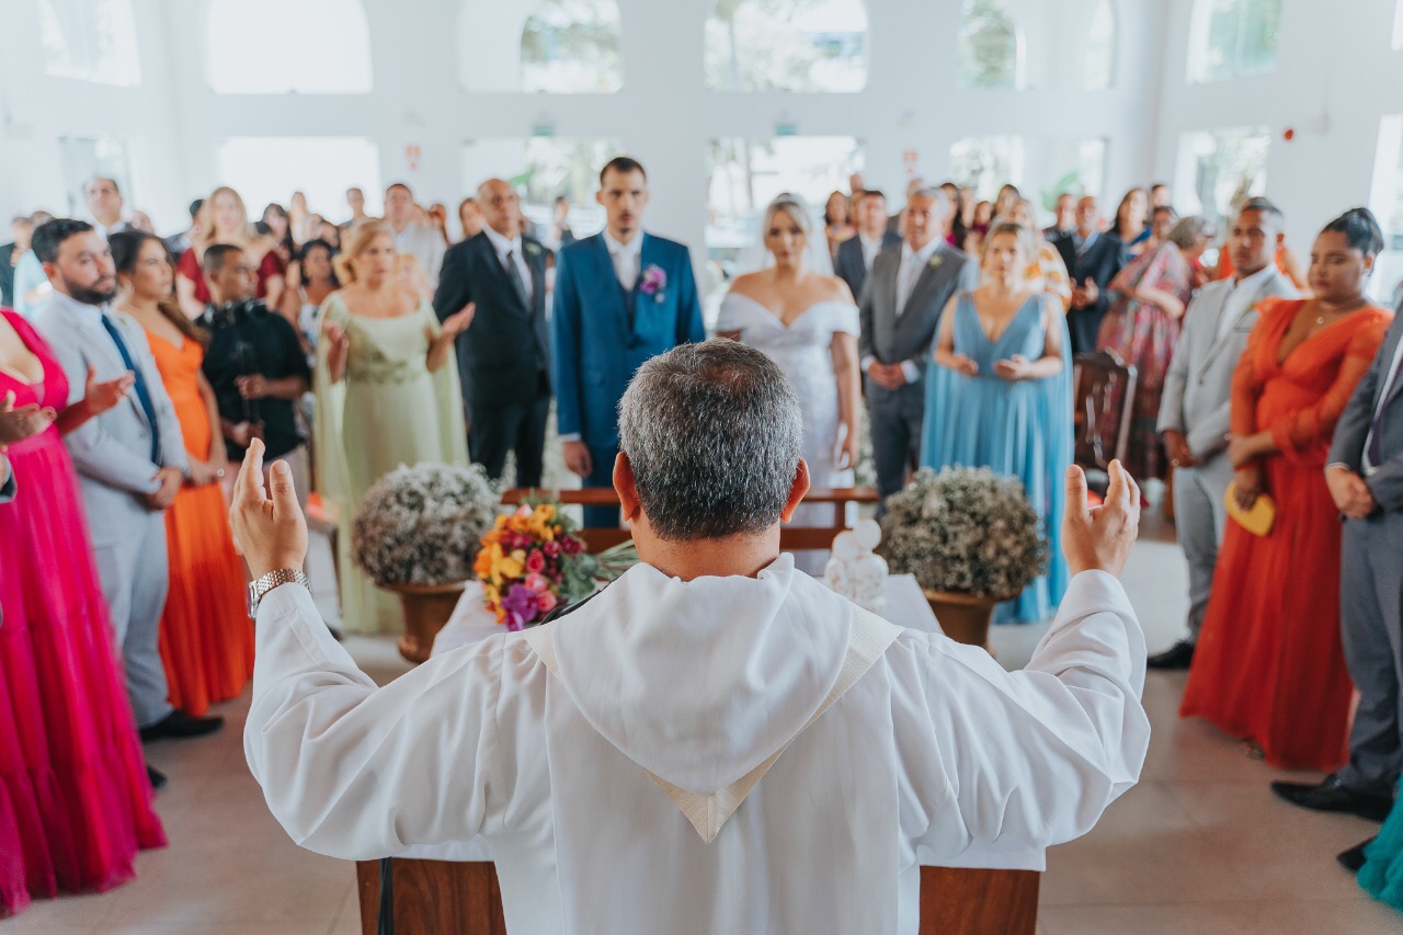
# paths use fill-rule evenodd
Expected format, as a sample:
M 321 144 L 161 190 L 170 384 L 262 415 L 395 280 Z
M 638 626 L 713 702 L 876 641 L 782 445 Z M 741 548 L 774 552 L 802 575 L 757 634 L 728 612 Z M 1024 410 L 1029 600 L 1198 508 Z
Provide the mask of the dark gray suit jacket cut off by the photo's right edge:
M 1393 316 L 1393 324 L 1383 336 L 1383 344 L 1374 355 L 1374 364 L 1355 387 L 1350 404 L 1344 407 L 1344 414 L 1334 427 L 1334 442 L 1330 445 L 1330 458 L 1326 463 L 1345 465 L 1354 472 L 1362 470 L 1364 441 L 1369 435 L 1374 413 L 1383 396 L 1383 382 L 1389 376 L 1400 341 L 1403 341 L 1403 313 Z M 1374 501 L 1379 507 L 1390 512 L 1403 511 L 1403 375 L 1395 378 L 1388 399 L 1383 399 L 1383 424 L 1379 431 L 1383 463 L 1376 465 L 1378 470 L 1365 477 L 1365 483 L 1369 484 Z

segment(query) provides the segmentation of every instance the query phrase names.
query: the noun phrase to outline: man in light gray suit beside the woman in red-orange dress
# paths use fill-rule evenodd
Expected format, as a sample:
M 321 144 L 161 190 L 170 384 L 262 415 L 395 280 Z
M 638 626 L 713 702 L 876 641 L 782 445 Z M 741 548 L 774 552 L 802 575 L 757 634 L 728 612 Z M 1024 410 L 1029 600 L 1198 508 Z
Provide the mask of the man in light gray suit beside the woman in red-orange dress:
M 1174 465 L 1174 528 L 1188 559 L 1188 637 L 1149 658 L 1150 668 L 1188 668 L 1218 564 L 1232 483 L 1228 460 L 1228 410 L 1232 375 L 1257 323 L 1257 302 L 1295 298 L 1274 263 L 1285 237 L 1281 211 L 1266 198 L 1243 204 L 1223 248 L 1236 274 L 1209 282 L 1188 303 L 1174 359 L 1164 375 L 1159 434 Z

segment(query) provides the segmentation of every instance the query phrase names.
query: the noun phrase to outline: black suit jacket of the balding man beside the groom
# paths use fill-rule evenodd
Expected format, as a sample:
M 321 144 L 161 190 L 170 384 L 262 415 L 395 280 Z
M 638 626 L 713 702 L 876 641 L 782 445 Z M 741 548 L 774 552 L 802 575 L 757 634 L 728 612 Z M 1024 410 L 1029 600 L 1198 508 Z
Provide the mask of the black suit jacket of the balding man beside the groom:
M 439 321 L 477 303 L 473 324 L 457 340 L 463 399 L 476 406 L 523 404 L 550 392 L 550 336 L 546 329 L 546 247 L 522 237 L 530 267 L 528 305 L 485 233 L 448 248 L 434 312 Z

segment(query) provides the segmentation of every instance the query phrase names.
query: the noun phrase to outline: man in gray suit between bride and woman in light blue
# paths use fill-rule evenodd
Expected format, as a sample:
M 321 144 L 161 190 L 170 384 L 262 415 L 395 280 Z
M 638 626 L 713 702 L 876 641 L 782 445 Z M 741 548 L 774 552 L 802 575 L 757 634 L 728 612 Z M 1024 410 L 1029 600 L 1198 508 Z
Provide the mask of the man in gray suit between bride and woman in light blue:
M 979 284 L 979 267 L 946 244 L 950 199 L 939 188 L 911 195 L 901 248 L 873 261 L 860 300 L 859 354 L 867 375 L 867 411 L 885 500 L 906 484 L 926 413 L 926 362 L 950 296 Z

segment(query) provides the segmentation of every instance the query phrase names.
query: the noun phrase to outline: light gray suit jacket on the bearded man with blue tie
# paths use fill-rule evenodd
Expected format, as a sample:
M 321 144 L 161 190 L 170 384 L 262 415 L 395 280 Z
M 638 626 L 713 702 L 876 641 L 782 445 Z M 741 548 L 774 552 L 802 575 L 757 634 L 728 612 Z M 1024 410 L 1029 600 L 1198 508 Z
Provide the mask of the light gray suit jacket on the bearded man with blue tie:
M 112 545 L 133 514 L 147 512 L 140 497 L 160 489 L 152 479 L 161 468 L 185 470 L 188 466 L 175 407 L 161 383 L 160 371 L 156 369 L 146 331 L 130 316 L 121 312 L 111 314 L 128 351 L 142 368 L 152 394 L 160 428 L 161 463 L 152 463 L 152 427 L 135 390 L 114 409 L 90 418 L 63 438 L 83 484 L 94 546 Z M 55 293 L 35 312 L 34 324 L 53 348 L 69 378 L 69 403 L 83 399 L 88 366 L 97 366 L 100 380 L 111 380 L 126 372 L 112 337 L 102 327 L 97 306 Z

